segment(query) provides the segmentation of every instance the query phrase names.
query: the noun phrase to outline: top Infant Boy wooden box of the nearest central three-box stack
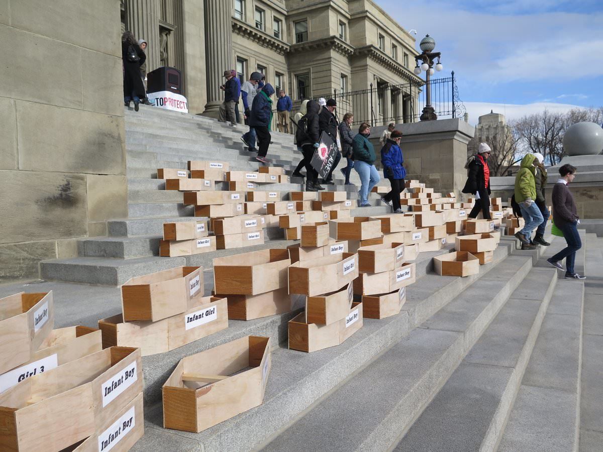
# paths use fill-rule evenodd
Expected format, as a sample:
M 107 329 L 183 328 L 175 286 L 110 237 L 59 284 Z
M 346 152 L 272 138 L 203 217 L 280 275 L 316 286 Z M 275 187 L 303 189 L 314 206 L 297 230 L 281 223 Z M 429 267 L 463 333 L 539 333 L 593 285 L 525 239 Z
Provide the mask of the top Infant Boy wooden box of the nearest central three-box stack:
M 289 266 L 289 293 L 314 297 L 343 287 L 358 277 L 358 254 L 335 254 Z

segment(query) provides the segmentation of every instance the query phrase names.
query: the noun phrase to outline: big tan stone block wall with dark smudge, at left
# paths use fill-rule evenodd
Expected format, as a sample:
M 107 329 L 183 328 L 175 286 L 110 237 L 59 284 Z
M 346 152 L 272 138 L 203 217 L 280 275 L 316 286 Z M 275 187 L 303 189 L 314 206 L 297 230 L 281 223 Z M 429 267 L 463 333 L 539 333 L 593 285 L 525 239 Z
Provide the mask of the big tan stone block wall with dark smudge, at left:
M 119 1 L 0 1 L 0 281 L 127 215 Z

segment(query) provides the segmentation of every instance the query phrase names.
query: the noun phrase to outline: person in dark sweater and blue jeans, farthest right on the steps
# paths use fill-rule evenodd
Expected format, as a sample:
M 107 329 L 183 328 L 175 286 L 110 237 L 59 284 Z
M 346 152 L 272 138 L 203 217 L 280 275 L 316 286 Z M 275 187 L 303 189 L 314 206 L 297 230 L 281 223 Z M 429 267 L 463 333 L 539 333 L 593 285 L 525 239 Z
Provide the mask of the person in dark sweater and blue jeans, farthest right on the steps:
M 576 251 L 582 248 L 582 240 L 580 240 L 580 234 L 578 234 L 578 225 L 580 224 L 578 209 L 573 201 L 572 192 L 567 187 L 576 177 L 576 167 L 566 163 L 566 165 L 559 168 L 559 174 L 561 178 L 553 186 L 553 222 L 563 232 L 563 238 L 566 239 L 567 246 L 547 259 L 546 262 L 563 270 L 561 261 L 565 259 L 566 279 L 584 280 L 586 276 L 577 274 L 574 269 Z

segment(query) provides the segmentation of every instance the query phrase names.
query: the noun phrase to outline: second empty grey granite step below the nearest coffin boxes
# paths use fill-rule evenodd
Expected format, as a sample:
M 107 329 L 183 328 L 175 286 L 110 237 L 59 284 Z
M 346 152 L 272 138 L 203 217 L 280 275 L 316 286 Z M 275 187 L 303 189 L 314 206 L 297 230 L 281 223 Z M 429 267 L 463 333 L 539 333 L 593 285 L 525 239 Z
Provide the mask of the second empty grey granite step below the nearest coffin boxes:
M 496 450 L 555 283 L 554 269 L 526 275 L 395 451 Z M 459 313 L 426 327 L 458 331 Z

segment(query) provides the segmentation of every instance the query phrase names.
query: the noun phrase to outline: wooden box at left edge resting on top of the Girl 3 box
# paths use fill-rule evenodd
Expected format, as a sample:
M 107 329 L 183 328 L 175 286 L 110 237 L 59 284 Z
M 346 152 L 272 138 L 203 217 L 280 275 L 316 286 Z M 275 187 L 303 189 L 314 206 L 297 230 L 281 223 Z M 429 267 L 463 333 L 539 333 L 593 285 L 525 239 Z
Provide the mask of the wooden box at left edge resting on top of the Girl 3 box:
M 0 298 L 0 374 L 29 362 L 53 326 L 52 292 Z

